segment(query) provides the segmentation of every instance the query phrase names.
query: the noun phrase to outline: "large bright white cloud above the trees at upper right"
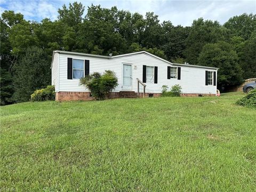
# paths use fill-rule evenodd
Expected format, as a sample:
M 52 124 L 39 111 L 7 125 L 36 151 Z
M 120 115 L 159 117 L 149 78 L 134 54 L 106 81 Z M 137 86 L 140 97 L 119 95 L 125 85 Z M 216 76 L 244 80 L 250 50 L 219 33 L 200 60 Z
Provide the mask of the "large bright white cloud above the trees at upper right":
M 161 20 L 170 20 L 174 25 L 182 26 L 190 26 L 194 19 L 200 17 L 223 24 L 235 15 L 256 13 L 254 1 L 181 1 L 179 6 L 170 3 L 169 7 L 169 12 L 160 14 Z

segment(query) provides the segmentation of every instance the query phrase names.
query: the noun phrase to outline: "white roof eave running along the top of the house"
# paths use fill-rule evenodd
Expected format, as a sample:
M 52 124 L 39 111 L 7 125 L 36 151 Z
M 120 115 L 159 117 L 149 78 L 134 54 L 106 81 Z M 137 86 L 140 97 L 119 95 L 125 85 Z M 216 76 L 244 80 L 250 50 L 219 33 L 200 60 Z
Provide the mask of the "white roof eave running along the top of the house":
M 157 57 L 154 54 L 151 54 L 147 51 L 138 51 L 138 52 L 133 52 L 133 53 L 126 53 L 126 54 L 119 54 L 119 55 L 115 55 L 115 56 L 104 56 L 104 55 L 95 55 L 95 54 L 88 54 L 88 53 L 78 53 L 78 52 L 70 52 L 70 51 L 53 51 L 53 55 L 54 53 L 63 53 L 63 54 L 73 54 L 73 55 L 81 55 L 81 56 L 87 56 L 87 57 L 95 57 L 95 58 L 102 58 L 102 59 L 115 59 L 115 58 L 119 58 L 119 57 L 126 57 L 126 56 L 130 56 L 130 55 L 135 55 L 135 54 L 147 54 L 151 57 L 154 57 L 156 59 L 162 60 L 166 63 L 169 63 L 170 65 L 174 65 L 174 66 L 184 66 L 184 67 L 199 67 L 199 68 L 207 68 L 207 69 L 219 69 L 219 68 L 215 68 L 215 67 L 207 67 L 207 66 L 197 66 L 197 65 L 189 65 L 189 64 L 182 64 L 182 63 L 172 63 L 170 61 L 167 61 L 163 58 Z M 52 61 L 53 61 L 53 55 L 52 55 Z M 52 68 L 52 65 L 51 65 Z

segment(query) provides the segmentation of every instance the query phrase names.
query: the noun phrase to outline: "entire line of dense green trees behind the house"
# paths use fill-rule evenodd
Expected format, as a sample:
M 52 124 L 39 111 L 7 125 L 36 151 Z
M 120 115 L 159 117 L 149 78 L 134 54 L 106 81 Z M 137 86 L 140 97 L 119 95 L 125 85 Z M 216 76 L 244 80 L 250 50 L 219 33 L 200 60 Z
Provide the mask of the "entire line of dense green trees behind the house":
M 58 19 L 28 21 L 21 13 L 1 15 L 1 105 L 28 101 L 51 84 L 52 51 L 113 55 L 146 50 L 171 62 L 219 67 L 218 87 L 226 89 L 256 75 L 256 15 L 242 14 L 224 25 L 199 18 L 190 27 L 160 22 L 158 15 L 85 7 L 74 2 Z

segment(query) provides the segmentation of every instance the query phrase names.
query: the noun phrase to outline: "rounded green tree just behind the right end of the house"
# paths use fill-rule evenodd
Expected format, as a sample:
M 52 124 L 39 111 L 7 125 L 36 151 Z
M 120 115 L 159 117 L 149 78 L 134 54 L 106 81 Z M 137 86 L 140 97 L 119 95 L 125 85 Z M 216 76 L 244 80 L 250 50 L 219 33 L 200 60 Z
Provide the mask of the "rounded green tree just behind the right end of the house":
M 224 41 L 209 43 L 199 54 L 198 65 L 218 67 L 218 85 L 239 85 L 243 82 L 242 69 L 238 65 L 237 53 Z

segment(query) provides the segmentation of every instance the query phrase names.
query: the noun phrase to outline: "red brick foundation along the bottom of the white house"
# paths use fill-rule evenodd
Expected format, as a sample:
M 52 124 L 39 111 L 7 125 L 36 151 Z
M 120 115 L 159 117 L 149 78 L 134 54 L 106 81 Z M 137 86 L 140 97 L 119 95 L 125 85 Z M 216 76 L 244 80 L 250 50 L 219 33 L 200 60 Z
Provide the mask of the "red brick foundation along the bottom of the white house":
M 162 93 L 146 93 L 145 97 L 161 97 Z M 202 97 L 205 96 L 215 96 L 215 94 L 200 94 L 200 93 L 181 93 L 181 97 Z M 109 99 L 116 98 L 137 98 L 138 94 L 134 91 L 121 91 L 121 92 L 111 92 Z M 143 98 L 143 93 L 140 93 L 140 98 Z M 60 91 L 55 93 L 56 101 L 90 101 L 94 100 L 90 97 L 90 92 L 74 92 L 74 91 Z

